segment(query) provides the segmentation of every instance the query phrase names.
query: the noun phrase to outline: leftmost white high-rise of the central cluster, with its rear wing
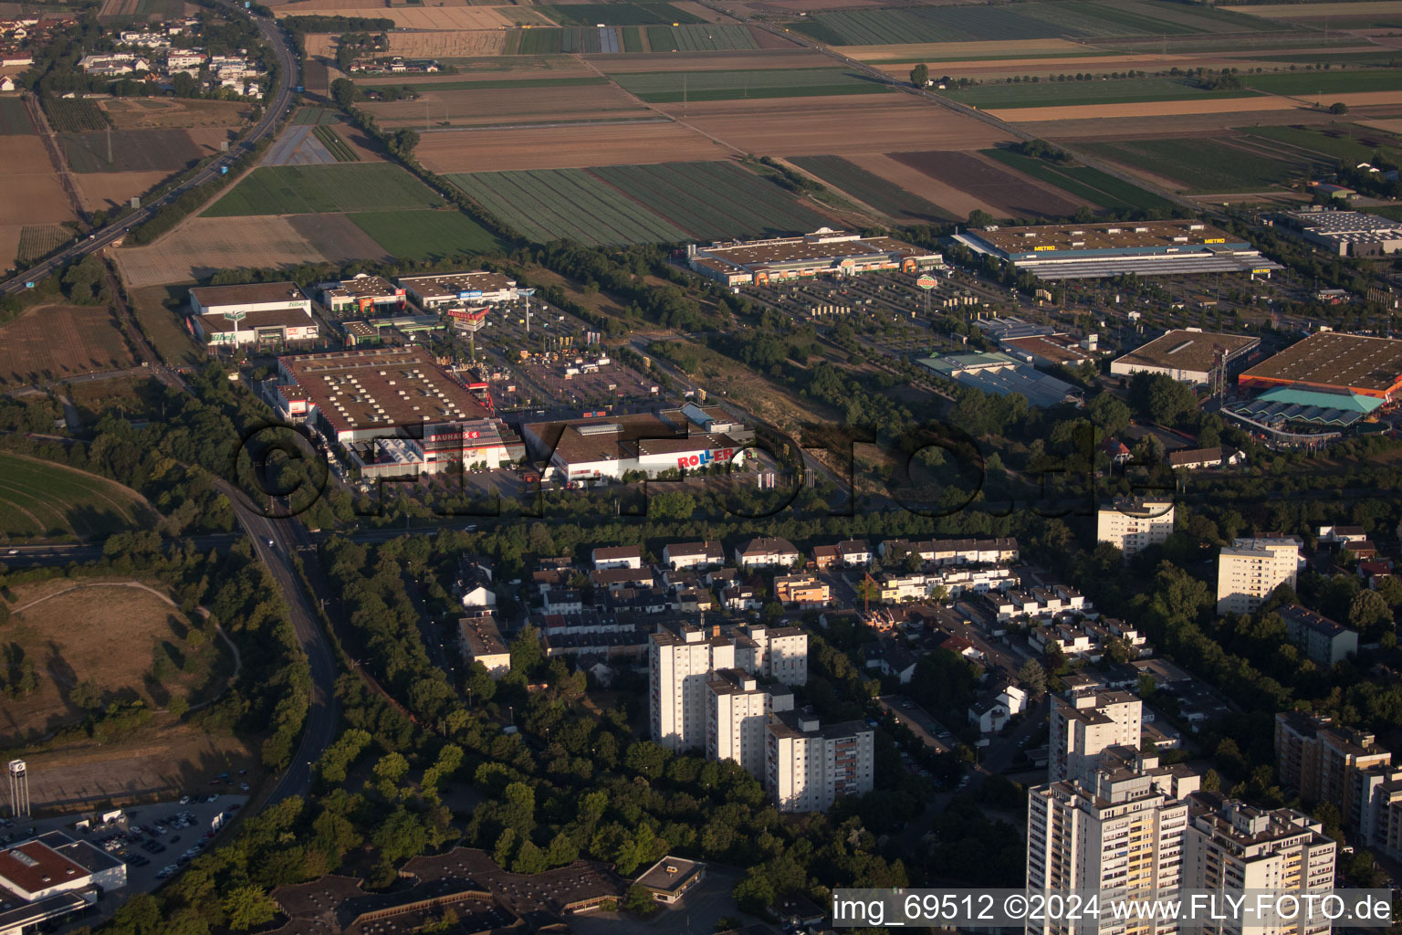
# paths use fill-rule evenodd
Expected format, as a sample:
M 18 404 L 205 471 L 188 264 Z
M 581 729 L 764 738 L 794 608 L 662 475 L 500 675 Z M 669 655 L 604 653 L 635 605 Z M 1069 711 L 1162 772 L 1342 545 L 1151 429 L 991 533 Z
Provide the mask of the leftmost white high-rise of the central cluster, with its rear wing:
M 707 746 L 707 683 L 739 669 L 784 685 L 808 681 L 808 635 L 798 627 L 658 627 L 648 643 L 652 739 L 670 750 Z

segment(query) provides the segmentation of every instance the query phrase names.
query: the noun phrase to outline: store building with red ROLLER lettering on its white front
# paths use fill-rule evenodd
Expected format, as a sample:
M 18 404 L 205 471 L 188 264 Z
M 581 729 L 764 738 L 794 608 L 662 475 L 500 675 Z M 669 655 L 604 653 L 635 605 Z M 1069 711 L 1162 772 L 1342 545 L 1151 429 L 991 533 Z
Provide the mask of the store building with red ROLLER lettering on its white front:
M 568 482 L 622 479 L 641 471 L 704 471 L 744 463 L 754 433 L 719 407 L 693 402 L 658 414 L 593 416 L 522 425 L 533 460 L 547 461 Z

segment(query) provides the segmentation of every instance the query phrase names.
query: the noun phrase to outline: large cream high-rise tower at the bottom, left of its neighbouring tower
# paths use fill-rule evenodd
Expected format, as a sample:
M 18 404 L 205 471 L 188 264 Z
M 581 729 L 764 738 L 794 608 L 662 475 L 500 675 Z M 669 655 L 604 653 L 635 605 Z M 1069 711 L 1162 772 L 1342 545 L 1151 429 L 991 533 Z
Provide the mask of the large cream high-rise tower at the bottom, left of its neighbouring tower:
M 1099 890 L 1106 897 L 1168 899 L 1183 876 L 1187 795 L 1199 777 L 1185 765 L 1113 746 L 1082 779 L 1028 791 L 1028 889 Z M 1082 918 L 1029 924 L 1044 935 L 1169 935 L 1172 921 Z

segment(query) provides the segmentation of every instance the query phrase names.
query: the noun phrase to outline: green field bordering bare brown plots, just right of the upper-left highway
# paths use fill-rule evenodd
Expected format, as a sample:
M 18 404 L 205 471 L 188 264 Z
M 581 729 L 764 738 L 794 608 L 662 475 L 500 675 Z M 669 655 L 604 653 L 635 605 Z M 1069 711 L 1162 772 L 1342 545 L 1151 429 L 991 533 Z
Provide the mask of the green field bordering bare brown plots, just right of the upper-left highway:
M 244 214 L 321 214 L 443 207 L 419 179 L 388 163 L 264 165 L 255 168 L 206 217 Z

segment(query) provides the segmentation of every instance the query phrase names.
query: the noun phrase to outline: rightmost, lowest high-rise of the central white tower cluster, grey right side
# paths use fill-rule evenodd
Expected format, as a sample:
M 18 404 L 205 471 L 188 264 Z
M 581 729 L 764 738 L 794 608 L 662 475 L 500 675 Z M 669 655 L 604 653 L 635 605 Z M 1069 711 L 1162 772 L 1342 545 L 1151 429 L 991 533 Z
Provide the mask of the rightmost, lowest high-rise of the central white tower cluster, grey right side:
M 764 728 L 764 770 L 780 812 L 823 812 L 873 782 L 873 735 L 865 721 L 822 726 L 813 715 L 774 714 Z

